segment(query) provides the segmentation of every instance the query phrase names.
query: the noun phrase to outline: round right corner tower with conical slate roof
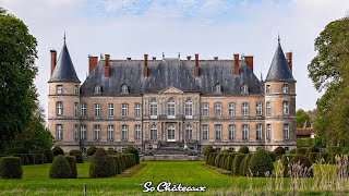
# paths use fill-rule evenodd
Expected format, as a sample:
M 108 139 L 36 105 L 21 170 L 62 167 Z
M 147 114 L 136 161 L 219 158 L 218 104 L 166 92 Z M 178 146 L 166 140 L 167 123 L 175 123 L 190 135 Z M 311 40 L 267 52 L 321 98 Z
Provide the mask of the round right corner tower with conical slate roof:
M 265 148 L 296 147 L 296 79 L 292 75 L 291 53 L 286 60 L 280 39 L 264 82 Z

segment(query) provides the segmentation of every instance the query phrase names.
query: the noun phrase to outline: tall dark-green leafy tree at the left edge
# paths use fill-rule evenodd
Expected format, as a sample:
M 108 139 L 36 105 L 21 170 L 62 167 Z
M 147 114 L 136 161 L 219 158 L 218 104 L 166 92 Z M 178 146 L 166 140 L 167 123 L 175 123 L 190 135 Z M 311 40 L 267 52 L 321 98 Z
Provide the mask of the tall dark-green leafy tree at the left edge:
M 27 26 L 0 9 L 0 151 L 28 125 L 35 110 L 36 46 Z

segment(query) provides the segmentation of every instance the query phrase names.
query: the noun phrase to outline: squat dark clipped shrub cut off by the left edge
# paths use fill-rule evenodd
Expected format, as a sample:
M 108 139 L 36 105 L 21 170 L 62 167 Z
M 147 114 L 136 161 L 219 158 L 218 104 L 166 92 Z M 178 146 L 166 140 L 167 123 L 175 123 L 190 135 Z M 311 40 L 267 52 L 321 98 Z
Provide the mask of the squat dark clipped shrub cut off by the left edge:
M 22 179 L 23 169 L 20 157 L 0 158 L 0 177 L 1 179 Z

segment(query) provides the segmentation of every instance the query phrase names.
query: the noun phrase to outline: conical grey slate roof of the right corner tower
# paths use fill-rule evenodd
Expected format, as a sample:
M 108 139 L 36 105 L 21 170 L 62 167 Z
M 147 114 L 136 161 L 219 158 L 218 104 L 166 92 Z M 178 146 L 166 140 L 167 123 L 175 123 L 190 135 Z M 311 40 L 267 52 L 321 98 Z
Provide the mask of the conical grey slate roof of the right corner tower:
M 268 75 L 265 78 L 265 82 L 272 82 L 272 81 L 294 82 L 293 75 L 285 59 L 285 54 L 284 54 L 280 41 L 278 41 L 278 46 L 270 64 Z

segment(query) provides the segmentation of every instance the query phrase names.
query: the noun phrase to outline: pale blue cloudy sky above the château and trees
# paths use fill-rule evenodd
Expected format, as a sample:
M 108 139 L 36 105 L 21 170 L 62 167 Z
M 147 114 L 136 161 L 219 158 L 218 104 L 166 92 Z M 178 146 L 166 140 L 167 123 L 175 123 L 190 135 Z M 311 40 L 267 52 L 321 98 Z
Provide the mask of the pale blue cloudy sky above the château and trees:
M 24 21 L 38 42 L 35 84 L 47 111 L 50 52 L 60 52 L 63 35 L 80 81 L 88 54 L 111 59 L 160 59 L 181 53 L 200 59 L 254 56 L 254 73 L 265 78 L 277 37 L 293 52 L 297 109 L 312 110 L 323 93 L 308 78 L 316 56 L 314 39 L 332 21 L 349 13 L 349 0 L 0 0 Z

